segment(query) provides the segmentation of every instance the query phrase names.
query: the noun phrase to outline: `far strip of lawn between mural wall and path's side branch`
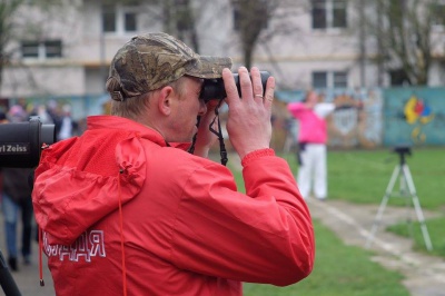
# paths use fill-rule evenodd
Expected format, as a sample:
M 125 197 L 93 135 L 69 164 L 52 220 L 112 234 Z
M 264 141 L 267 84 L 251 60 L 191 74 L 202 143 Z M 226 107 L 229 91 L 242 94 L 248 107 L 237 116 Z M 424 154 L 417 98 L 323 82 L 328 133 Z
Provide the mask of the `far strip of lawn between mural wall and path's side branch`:
M 294 155 L 285 155 L 296 172 Z M 445 148 L 413 149 L 406 157 L 422 208 L 445 209 Z M 389 150 L 350 150 L 328 152 L 329 198 L 356 204 L 379 204 L 387 189 L 399 157 Z M 393 188 L 399 193 L 399 182 Z M 390 198 L 389 205 L 405 205 L 406 200 Z

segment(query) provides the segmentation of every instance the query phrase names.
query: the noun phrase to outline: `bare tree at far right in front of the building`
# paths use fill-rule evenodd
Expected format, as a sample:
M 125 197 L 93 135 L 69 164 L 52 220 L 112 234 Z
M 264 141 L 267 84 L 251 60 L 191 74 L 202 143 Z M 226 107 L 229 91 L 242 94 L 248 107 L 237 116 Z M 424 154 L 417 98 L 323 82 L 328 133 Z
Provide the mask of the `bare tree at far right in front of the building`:
M 427 85 L 435 40 L 433 28 L 444 20 L 438 0 L 366 1 L 373 13 L 367 33 L 377 41 L 375 62 L 408 85 Z M 394 81 L 393 81 L 394 82 Z

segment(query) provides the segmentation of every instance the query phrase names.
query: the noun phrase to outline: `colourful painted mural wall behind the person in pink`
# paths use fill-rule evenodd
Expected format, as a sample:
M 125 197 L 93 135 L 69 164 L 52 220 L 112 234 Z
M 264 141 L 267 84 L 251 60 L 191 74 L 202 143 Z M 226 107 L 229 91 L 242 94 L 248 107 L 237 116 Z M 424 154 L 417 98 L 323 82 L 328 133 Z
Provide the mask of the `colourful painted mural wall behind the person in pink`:
M 318 93 L 339 106 L 326 119 L 329 147 L 445 145 L 445 88 L 332 89 Z M 304 91 L 277 91 L 277 99 L 285 103 L 304 96 Z M 297 138 L 298 121 L 290 125 L 288 134 L 285 150 L 289 139 Z

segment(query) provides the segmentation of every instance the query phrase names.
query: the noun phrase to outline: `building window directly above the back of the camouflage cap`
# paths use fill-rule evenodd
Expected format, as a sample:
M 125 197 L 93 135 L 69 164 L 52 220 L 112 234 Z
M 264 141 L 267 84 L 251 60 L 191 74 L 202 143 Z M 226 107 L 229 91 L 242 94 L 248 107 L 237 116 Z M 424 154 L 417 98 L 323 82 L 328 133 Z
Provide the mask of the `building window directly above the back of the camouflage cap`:
M 128 7 L 102 7 L 102 31 L 106 33 L 134 33 L 138 30 L 137 11 Z

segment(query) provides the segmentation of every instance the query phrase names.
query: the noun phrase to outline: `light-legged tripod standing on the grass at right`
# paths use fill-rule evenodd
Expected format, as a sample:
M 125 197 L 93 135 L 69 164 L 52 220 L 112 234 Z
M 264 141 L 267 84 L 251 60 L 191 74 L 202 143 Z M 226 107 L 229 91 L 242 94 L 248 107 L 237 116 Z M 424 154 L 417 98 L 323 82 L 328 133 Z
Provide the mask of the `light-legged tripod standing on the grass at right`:
M 404 147 L 396 147 L 394 149 L 394 151 L 399 155 L 400 161 L 399 161 L 399 165 L 394 168 L 388 187 L 386 188 L 386 191 L 385 191 L 385 196 L 383 197 L 382 204 L 378 207 L 378 211 L 377 211 L 376 218 L 374 220 L 374 224 L 373 224 L 373 227 L 370 230 L 370 235 L 366 241 L 366 247 L 368 248 L 374 239 L 375 233 L 377 231 L 378 225 L 382 220 L 383 213 L 386 208 L 389 197 L 393 195 L 394 185 L 395 185 L 397 178 L 399 178 L 399 181 L 400 181 L 399 194 L 403 197 L 412 198 L 414 209 L 417 215 L 417 219 L 421 223 L 421 228 L 422 228 L 422 234 L 424 236 L 425 246 L 428 250 L 433 250 L 433 245 L 429 239 L 428 229 L 426 228 L 424 214 L 422 211 L 421 203 L 418 201 L 416 189 L 414 187 L 413 177 L 411 175 L 408 165 L 406 164 L 406 160 L 405 160 L 405 155 L 411 155 L 411 149 L 409 149 L 409 147 L 404 146 Z

